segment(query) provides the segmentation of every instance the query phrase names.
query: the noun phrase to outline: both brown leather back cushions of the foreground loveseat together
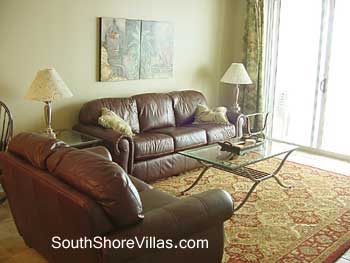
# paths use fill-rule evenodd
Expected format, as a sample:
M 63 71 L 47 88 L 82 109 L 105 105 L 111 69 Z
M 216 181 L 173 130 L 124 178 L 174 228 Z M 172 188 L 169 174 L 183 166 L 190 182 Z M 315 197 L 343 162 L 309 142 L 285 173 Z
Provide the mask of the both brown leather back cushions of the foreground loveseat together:
M 31 145 L 35 148 L 27 150 Z M 129 176 L 104 156 L 31 133 L 15 136 L 8 149 L 94 200 L 115 226 L 131 225 L 143 218 L 141 199 Z

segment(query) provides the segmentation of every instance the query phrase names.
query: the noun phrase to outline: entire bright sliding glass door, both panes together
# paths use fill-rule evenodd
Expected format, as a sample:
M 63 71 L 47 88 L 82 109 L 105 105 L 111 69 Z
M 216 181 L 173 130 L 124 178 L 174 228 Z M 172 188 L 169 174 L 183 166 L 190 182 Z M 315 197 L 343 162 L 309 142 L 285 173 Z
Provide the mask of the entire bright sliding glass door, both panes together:
M 349 0 L 274 0 L 271 137 L 349 155 Z M 336 4 L 336 5 L 335 5 Z M 276 13 L 273 10 L 272 13 Z M 276 26 L 277 25 L 277 26 Z M 270 28 L 271 31 L 271 28 Z M 273 41 L 275 39 L 276 41 Z M 272 102 L 271 102 L 272 101 Z M 349 101 L 349 102 L 348 102 Z M 343 135 L 343 136 L 342 136 Z

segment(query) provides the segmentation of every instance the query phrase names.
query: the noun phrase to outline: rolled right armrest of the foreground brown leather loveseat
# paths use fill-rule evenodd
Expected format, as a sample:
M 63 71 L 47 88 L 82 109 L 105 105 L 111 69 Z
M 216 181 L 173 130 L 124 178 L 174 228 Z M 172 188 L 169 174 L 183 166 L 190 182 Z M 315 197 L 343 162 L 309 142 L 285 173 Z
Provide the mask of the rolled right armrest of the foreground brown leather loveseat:
M 210 190 L 191 197 L 179 199 L 145 213 L 143 221 L 137 225 L 118 230 L 107 236 L 108 239 L 142 240 L 144 237 L 154 237 L 162 240 L 172 240 L 173 244 L 182 239 L 191 238 L 210 228 L 222 226 L 223 222 L 233 214 L 231 196 L 223 190 Z M 209 247 L 210 247 L 210 240 Z M 155 253 L 154 249 L 137 248 L 130 253 L 128 249 L 104 249 L 104 257 L 118 258 L 120 262 L 136 258 L 148 253 Z

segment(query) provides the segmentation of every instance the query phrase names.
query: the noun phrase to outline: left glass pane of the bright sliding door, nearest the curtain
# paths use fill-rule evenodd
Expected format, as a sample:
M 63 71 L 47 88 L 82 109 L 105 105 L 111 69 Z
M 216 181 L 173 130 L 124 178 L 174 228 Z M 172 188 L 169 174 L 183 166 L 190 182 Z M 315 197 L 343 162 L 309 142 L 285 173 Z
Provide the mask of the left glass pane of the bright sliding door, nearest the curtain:
M 280 9 L 273 137 L 310 145 L 322 2 L 286 0 Z

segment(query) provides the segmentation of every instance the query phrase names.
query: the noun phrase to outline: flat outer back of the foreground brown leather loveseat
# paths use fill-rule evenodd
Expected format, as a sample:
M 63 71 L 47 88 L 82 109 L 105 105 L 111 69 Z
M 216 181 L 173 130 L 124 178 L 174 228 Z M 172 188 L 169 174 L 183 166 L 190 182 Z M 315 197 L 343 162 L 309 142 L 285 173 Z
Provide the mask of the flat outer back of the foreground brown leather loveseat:
M 106 213 L 94 200 L 74 187 L 52 176 L 43 164 L 55 149 L 54 143 L 45 138 L 36 138 L 40 149 L 18 152 L 30 148 L 30 138 L 22 134 L 14 137 L 8 152 L 0 153 L 2 183 L 7 193 L 11 213 L 18 232 L 26 243 L 42 253 L 51 262 L 99 262 L 97 250 L 69 250 L 59 253 L 52 248 L 52 237 L 79 239 L 93 238 L 115 230 Z M 27 145 L 26 145 L 27 144 Z M 47 149 L 51 149 L 50 151 Z M 50 153 L 50 154 L 48 154 Z

